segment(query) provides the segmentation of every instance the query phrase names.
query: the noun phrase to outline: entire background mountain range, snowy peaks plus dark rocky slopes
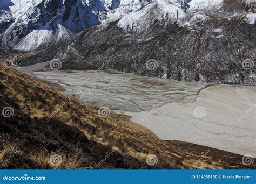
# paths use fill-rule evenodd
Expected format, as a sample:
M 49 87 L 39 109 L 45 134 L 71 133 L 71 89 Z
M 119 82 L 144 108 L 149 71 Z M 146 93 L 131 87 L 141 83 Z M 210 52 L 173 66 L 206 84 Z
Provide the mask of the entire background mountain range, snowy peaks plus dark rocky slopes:
M 20 66 L 58 58 L 62 69 L 255 84 L 255 1 L 5 1 L 2 46 L 37 48 L 15 59 Z

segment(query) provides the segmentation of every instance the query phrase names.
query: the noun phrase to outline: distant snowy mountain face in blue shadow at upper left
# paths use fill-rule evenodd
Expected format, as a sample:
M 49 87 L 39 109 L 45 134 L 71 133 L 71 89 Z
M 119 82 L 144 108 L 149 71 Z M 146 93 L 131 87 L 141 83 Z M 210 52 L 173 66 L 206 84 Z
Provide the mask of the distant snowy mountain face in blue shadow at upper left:
M 5 0 L 0 10 L 13 18 L 0 21 L 2 45 L 31 51 L 41 45 L 70 40 L 80 31 L 100 24 L 107 12 L 119 18 L 145 4 L 147 1 Z

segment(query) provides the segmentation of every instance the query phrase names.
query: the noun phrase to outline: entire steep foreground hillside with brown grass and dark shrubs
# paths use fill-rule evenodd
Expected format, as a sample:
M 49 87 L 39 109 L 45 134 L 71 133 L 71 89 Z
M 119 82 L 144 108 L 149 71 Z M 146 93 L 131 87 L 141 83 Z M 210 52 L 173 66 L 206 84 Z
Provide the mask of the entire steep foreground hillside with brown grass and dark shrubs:
M 256 168 L 243 165 L 241 155 L 134 130 L 118 116 L 99 116 L 28 75 L 0 67 L 1 168 Z

